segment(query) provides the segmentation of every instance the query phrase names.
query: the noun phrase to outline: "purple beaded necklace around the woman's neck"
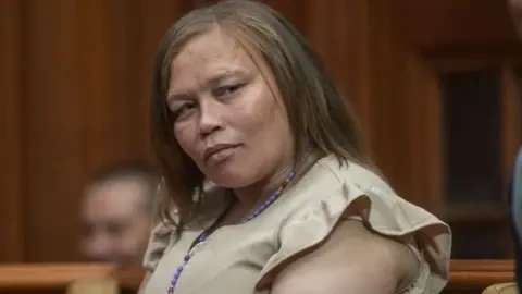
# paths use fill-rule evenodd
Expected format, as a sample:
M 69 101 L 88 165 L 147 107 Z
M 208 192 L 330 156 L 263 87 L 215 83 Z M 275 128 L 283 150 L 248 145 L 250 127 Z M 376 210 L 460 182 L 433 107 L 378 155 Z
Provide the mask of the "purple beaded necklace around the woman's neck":
M 283 184 L 279 186 L 279 188 L 277 191 L 275 191 L 274 193 L 272 193 L 272 195 L 270 195 L 269 199 L 266 199 L 266 201 L 264 201 L 263 204 L 261 204 L 253 212 L 251 212 L 250 215 L 248 215 L 247 217 L 245 217 L 240 223 L 245 223 L 245 222 L 249 222 L 251 221 L 252 219 L 254 219 L 256 217 L 258 217 L 259 215 L 261 215 L 261 212 L 263 212 L 269 206 L 271 206 L 278 197 L 279 195 L 283 193 L 283 191 L 286 188 L 286 186 L 290 183 L 290 181 L 296 176 L 296 173 L 294 171 L 291 171 L 289 174 L 288 174 L 288 177 L 286 177 L 285 182 L 283 182 Z M 229 206 L 231 208 L 232 206 Z M 229 209 L 228 208 L 228 209 Z M 228 211 L 228 209 L 226 209 L 224 211 L 224 213 L 222 215 L 225 216 L 226 212 Z M 220 218 L 221 219 L 221 218 Z M 217 220 L 215 223 L 217 223 L 220 220 Z M 183 271 L 183 268 L 188 264 L 188 260 L 190 260 L 190 258 L 192 257 L 194 255 L 194 249 L 202 244 L 207 237 L 209 236 L 209 234 L 207 233 L 207 231 L 203 231 L 197 238 L 197 242 L 196 242 L 196 245 L 191 246 L 191 249 L 188 250 L 187 255 L 185 256 L 185 258 L 183 258 L 183 264 L 181 266 L 178 266 L 176 268 L 176 272 L 174 273 L 174 277 L 172 278 L 171 280 L 171 285 L 169 286 L 169 291 L 166 292 L 167 294 L 173 294 L 174 293 L 174 287 L 176 286 L 176 283 L 177 283 L 177 279 L 179 279 L 179 275 L 182 274 L 182 271 Z

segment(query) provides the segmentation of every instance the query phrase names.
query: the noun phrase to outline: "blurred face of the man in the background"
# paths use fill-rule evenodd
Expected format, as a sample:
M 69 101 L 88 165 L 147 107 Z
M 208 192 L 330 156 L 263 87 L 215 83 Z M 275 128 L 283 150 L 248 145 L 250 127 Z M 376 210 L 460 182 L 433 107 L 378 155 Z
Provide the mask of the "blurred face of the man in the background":
M 142 183 L 116 180 L 86 191 L 82 206 L 82 252 L 92 261 L 140 262 L 150 230 Z

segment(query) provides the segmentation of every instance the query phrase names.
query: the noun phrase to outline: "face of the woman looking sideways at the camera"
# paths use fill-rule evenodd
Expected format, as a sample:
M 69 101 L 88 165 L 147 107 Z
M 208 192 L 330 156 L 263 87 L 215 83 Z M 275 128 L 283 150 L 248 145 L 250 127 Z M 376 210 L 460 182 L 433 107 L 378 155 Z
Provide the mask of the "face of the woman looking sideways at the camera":
M 214 28 L 190 40 L 170 73 L 174 136 L 207 177 L 240 188 L 287 169 L 294 136 L 264 61 Z

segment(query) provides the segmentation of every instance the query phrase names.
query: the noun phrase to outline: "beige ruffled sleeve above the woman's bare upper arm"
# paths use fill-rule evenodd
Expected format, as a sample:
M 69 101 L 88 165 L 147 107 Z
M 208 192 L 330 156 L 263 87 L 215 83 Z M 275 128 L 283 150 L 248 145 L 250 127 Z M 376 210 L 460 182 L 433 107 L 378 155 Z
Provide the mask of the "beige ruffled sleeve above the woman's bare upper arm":
M 427 271 L 419 272 L 424 281 L 418 281 L 417 287 L 438 293 L 449 277 L 451 234 L 448 225 L 398 197 L 390 188 L 380 189 L 348 181 L 339 184 L 335 193 L 308 201 L 282 226 L 279 249 L 263 268 L 263 279 L 299 253 L 325 241 L 340 220 L 357 219 L 383 235 L 403 240 L 405 244 L 413 241 L 423 264 L 420 271 Z

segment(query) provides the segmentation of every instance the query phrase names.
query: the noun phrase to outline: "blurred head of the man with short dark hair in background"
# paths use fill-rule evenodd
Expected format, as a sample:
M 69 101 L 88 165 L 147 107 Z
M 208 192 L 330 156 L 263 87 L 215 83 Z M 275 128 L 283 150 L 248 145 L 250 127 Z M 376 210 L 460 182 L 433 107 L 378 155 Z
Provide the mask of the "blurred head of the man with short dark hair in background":
M 80 207 L 80 250 L 88 260 L 141 262 L 159 182 L 141 161 L 113 164 L 91 179 Z

